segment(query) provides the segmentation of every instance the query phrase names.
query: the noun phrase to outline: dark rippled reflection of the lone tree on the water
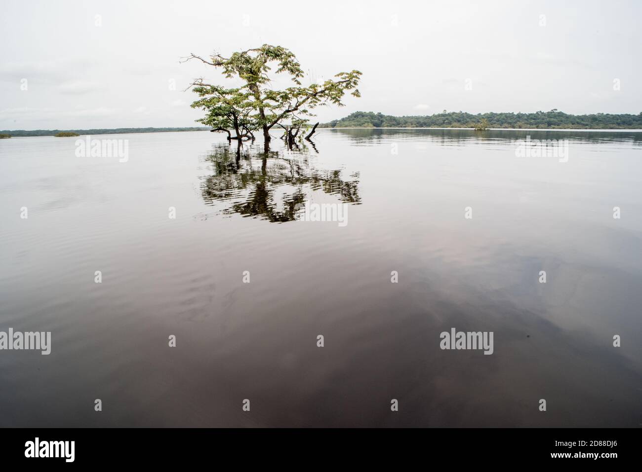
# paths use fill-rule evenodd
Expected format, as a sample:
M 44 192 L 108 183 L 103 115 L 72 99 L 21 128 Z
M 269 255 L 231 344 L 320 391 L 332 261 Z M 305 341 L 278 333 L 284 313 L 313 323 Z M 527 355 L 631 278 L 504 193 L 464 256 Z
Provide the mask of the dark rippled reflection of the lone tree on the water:
M 219 144 L 205 158 L 214 173 L 204 176 L 201 195 L 208 205 L 223 205 L 224 214 L 259 216 L 275 223 L 293 221 L 297 205 L 314 191 L 344 203 L 361 203 L 358 173 L 344 180 L 340 169 L 317 169 L 310 164 L 307 151 L 266 154 L 252 146 Z

